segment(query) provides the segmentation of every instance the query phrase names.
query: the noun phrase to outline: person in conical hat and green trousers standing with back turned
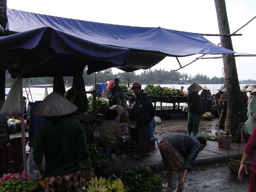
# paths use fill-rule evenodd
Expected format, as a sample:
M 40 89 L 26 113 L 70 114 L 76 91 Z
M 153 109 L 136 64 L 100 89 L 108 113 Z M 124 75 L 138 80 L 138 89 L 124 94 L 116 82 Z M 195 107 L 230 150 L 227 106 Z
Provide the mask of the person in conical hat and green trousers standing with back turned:
M 200 126 L 200 115 L 203 113 L 202 100 L 198 92 L 202 86 L 192 83 L 188 87 L 188 135 L 198 136 Z

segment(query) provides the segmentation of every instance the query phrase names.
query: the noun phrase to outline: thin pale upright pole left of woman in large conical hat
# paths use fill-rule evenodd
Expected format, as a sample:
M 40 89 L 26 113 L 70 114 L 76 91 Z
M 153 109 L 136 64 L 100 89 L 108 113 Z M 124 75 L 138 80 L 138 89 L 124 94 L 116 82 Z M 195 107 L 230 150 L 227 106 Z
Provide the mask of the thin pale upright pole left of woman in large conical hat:
M 22 88 L 22 77 L 20 78 L 20 125 L 21 125 L 21 140 L 22 140 L 22 158 L 24 171 L 28 171 L 27 168 L 27 157 L 26 157 L 26 139 L 25 139 L 25 126 L 24 126 L 24 111 L 23 111 L 23 88 Z

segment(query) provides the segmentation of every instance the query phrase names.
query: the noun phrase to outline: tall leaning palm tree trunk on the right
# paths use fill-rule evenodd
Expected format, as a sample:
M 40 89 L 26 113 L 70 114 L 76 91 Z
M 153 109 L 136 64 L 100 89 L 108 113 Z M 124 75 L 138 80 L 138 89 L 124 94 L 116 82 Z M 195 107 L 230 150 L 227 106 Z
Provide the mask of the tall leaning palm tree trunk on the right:
M 225 0 L 214 0 L 214 2 L 220 34 L 230 34 Z M 220 40 L 222 47 L 233 50 L 231 37 L 220 36 Z M 238 123 L 246 121 L 246 111 L 242 102 L 234 54 L 222 55 L 222 58 L 228 103 L 226 129 L 234 135 L 238 129 Z

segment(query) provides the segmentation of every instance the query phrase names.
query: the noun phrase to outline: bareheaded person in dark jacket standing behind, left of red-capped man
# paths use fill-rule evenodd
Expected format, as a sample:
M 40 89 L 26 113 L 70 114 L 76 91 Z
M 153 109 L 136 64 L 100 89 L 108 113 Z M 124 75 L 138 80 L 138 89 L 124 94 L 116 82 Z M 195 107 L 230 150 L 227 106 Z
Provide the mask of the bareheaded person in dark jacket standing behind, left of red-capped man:
M 119 86 L 119 79 L 115 78 L 114 79 L 114 86 L 110 87 L 108 90 L 108 105 L 109 108 L 112 107 L 113 105 L 120 104 L 120 99 L 118 96 L 116 96 L 117 93 L 122 91 L 122 88 Z

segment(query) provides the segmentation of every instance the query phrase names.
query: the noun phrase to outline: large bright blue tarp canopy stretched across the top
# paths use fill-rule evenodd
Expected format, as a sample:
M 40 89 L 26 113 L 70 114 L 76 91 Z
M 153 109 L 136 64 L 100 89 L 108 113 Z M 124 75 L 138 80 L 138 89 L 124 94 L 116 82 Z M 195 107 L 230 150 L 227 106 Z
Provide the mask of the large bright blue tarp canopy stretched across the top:
M 160 27 L 132 27 L 88 22 L 13 9 L 7 10 L 7 16 L 9 29 L 14 32 L 48 26 L 98 44 L 129 48 L 131 52 L 128 63 L 125 66 L 116 66 L 127 72 L 150 68 L 166 56 L 235 53 L 213 44 L 198 33 Z

